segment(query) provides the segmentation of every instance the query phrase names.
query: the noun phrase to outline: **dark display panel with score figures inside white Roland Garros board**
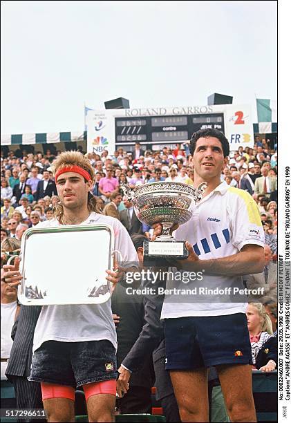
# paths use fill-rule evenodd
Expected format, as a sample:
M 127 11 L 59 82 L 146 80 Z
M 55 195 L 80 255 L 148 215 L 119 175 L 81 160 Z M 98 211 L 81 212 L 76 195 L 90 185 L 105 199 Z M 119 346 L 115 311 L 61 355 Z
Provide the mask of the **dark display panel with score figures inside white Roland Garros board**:
M 224 133 L 223 113 L 115 118 L 115 144 L 171 144 L 189 140 L 192 133 L 204 128 L 214 128 Z

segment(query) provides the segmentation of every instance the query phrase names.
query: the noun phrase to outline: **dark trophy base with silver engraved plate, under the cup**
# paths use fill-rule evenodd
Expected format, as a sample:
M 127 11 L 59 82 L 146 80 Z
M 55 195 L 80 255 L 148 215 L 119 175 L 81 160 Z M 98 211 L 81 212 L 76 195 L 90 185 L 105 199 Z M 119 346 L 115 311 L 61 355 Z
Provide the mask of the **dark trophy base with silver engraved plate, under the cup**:
M 185 241 L 144 241 L 144 266 L 169 266 L 169 261 L 189 256 Z

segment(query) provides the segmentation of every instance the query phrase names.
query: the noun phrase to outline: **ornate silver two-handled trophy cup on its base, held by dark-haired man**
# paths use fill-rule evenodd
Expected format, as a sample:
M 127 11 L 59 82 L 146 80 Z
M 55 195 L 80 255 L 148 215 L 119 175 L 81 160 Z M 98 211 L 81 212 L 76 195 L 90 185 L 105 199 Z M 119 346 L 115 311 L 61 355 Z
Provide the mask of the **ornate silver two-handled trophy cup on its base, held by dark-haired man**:
M 149 226 L 162 223 L 162 234 L 155 241 L 144 241 L 144 265 L 162 265 L 169 256 L 187 259 L 189 252 L 185 241 L 176 241 L 170 234 L 171 228 L 191 218 L 191 203 L 200 201 L 206 187 L 206 182 L 197 188 L 181 182 L 151 182 L 134 189 L 121 185 L 124 196 L 133 203 L 135 214 L 142 223 Z

